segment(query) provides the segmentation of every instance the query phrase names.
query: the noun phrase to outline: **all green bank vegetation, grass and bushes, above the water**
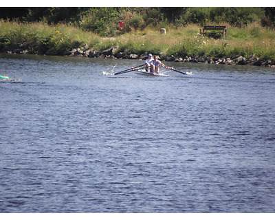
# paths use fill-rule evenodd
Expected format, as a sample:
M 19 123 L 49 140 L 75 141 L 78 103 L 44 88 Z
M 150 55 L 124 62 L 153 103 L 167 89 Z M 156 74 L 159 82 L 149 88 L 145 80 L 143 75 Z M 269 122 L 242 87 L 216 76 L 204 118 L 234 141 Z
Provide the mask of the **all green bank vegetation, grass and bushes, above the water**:
M 124 10 L 123 17 L 118 16 L 118 10 Z M 241 56 L 253 62 L 242 60 L 239 64 L 275 65 L 274 21 L 265 13 L 268 10 L 256 8 L 252 12 L 242 8 L 235 11 L 235 15 L 240 13 L 236 19 L 222 14 L 229 8 L 212 8 L 215 16 L 210 8 L 179 8 L 181 17 L 163 8 L 157 17 L 154 10 L 145 13 L 140 8 L 90 8 L 78 13 L 78 19 L 67 22 L 49 22 L 45 17 L 36 21 L 28 21 L 27 17 L 1 19 L 0 51 L 102 58 L 142 58 L 151 53 L 170 61 L 208 63 Z M 96 12 L 102 14 L 95 15 Z M 124 22 L 122 28 L 118 21 Z M 199 29 L 203 25 L 226 25 L 228 36 L 201 36 Z M 161 28 L 166 29 L 166 34 L 159 32 Z

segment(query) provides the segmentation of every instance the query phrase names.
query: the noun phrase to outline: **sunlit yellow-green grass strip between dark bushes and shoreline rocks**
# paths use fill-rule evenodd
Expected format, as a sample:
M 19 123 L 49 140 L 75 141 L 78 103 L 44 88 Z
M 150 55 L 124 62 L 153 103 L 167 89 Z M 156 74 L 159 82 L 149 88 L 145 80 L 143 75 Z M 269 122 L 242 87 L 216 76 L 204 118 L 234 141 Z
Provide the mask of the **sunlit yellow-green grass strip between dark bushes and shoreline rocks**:
M 217 25 L 217 24 L 216 24 Z M 213 39 L 199 35 L 199 25 L 177 28 L 165 27 L 167 34 L 160 34 L 160 25 L 148 26 L 144 30 L 133 30 L 111 38 L 104 38 L 92 32 L 85 32 L 72 25 L 47 25 L 42 22 L 18 23 L 0 21 L 0 51 L 28 54 L 45 54 L 54 48 L 59 55 L 66 50 L 80 48 L 107 50 L 124 54 L 159 54 L 162 57 L 177 58 L 212 57 L 234 58 L 256 55 L 260 60 L 275 63 L 275 31 L 252 23 L 245 28 L 234 28 L 228 24 L 228 37 Z M 19 50 L 18 50 L 19 49 Z

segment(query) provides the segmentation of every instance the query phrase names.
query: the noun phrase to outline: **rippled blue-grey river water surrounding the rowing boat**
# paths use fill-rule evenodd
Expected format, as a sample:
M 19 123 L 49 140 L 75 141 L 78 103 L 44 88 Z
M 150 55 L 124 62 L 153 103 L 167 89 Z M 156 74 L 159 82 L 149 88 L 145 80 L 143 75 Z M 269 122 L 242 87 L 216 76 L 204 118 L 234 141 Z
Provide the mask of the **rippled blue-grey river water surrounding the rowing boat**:
M 275 69 L 141 63 L 0 55 L 0 212 L 275 212 Z

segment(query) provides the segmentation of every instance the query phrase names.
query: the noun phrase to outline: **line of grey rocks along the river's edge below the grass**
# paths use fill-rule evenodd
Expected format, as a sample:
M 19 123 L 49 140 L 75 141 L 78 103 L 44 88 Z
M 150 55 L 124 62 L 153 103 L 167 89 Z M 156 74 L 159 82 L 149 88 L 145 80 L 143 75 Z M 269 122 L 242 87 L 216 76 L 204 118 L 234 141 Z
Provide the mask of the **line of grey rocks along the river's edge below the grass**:
M 137 54 L 126 54 L 125 52 L 115 52 L 118 47 L 111 47 L 108 50 L 94 50 L 89 48 L 87 45 L 84 47 L 76 48 L 73 50 L 66 50 L 65 52 L 57 52 L 54 48 L 47 50 L 46 52 L 38 52 L 37 54 L 46 56 L 76 56 L 76 57 L 88 57 L 88 58 L 118 58 L 118 59 L 142 59 L 147 58 L 147 54 L 142 54 L 138 56 Z M 2 50 L 1 53 L 8 54 L 30 54 L 28 49 L 24 47 L 18 47 L 13 49 Z M 251 55 L 248 57 L 235 56 L 235 57 L 224 57 L 224 58 L 214 58 L 209 56 L 203 57 L 191 57 L 186 56 L 184 58 L 177 58 L 175 56 L 164 56 L 164 54 L 159 54 L 161 61 L 169 62 L 188 62 L 188 63 L 210 63 L 210 64 L 223 64 L 223 65 L 254 65 L 262 67 L 275 67 L 275 63 L 270 60 L 263 60 L 256 55 Z

